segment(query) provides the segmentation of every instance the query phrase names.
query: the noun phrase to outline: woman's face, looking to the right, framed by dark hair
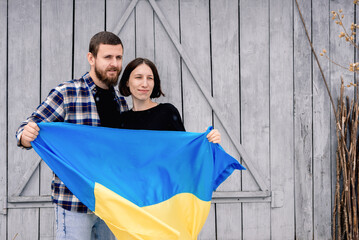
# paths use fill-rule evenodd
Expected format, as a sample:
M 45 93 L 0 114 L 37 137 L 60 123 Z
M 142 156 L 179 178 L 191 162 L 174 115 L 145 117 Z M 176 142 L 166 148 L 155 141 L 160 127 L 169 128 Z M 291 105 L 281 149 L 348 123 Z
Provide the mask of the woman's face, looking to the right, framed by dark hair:
M 151 68 L 146 64 L 141 64 L 131 72 L 127 87 L 134 100 L 147 101 L 150 99 L 154 84 Z

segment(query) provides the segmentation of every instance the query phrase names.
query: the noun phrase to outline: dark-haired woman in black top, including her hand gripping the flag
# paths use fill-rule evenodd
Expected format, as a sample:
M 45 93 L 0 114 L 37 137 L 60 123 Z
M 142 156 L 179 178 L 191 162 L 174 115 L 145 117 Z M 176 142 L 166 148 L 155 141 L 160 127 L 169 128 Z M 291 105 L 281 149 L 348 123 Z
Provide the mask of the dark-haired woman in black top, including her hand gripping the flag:
M 156 103 L 153 98 L 164 96 L 161 81 L 154 63 L 146 58 L 136 58 L 125 68 L 119 84 L 123 96 L 132 97 L 133 108 L 119 117 L 119 128 L 185 131 L 181 116 L 170 103 Z M 221 135 L 214 129 L 208 141 L 220 143 Z

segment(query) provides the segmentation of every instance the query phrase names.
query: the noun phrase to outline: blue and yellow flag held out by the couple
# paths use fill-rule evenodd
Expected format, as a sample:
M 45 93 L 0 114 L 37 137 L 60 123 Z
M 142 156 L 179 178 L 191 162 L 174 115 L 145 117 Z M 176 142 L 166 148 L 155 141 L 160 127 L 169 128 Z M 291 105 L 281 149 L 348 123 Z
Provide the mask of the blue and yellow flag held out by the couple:
M 39 123 L 33 148 L 118 239 L 197 239 L 212 192 L 244 167 L 205 133 Z

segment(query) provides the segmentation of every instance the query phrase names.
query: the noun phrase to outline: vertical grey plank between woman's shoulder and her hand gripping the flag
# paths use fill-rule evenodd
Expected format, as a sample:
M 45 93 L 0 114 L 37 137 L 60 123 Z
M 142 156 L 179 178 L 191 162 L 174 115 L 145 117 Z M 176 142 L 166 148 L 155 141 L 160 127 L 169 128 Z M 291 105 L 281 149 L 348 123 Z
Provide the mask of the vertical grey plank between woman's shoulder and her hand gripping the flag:
M 209 87 L 211 86 L 209 2 L 206 0 L 181 1 L 180 20 L 182 46 Z M 212 110 L 183 61 L 181 70 L 183 81 L 182 117 L 186 130 L 202 132 L 212 124 Z M 199 239 L 216 239 L 214 227 L 215 214 L 213 213 L 208 216 Z

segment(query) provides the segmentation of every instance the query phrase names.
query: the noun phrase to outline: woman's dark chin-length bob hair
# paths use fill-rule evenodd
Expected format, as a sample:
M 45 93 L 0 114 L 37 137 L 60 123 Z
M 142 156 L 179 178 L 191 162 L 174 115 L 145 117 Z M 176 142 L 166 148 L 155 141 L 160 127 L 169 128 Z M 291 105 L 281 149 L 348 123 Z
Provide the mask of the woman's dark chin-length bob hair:
M 155 64 L 153 62 L 151 62 L 150 60 L 148 60 L 147 58 L 135 58 L 129 64 L 127 64 L 125 71 L 122 74 L 120 84 L 118 86 L 120 93 L 125 97 L 128 97 L 131 95 L 130 89 L 129 89 L 129 87 L 127 87 L 127 82 L 130 79 L 130 75 L 131 75 L 132 71 L 135 70 L 135 68 L 137 68 L 139 65 L 142 65 L 142 64 L 146 64 L 147 66 L 149 66 L 153 73 L 154 86 L 153 86 L 153 91 L 152 91 L 150 98 L 159 98 L 161 95 L 165 96 L 161 90 L 161 80 L 160 80 L 160 76 L 158 75 L 157 68 L 156 68 Z

